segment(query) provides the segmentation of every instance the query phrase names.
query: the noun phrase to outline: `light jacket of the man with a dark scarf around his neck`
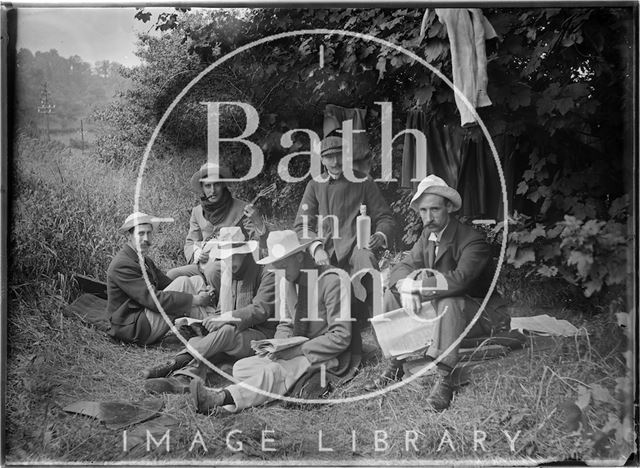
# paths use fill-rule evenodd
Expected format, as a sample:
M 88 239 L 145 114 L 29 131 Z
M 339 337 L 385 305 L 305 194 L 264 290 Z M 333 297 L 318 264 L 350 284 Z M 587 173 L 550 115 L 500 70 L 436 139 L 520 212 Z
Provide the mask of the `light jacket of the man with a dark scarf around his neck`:
M 189 232 L 184 243 L 184 256 L 188 263 L 193 261 L 193 252 L 197 247 L 201 247 L 202 241 L 213 239 L 218 235 L 220 228 L 231 227 L 236 225 L 243 216 L 244 207 L 248 203 L 243 200 L 233 198 L 231 202 L 231 209 L 226 218 L 215 226 L 211 224 L 207 218 L 205 218 L 202 205 L 198 205 L 191 210 L 191 218 L 189 219 Z M 244 219 L 240 226 L 247 239 L 256 239 L 260 241 L 260 247 L 265 248 L 266 239 L 269 234 L 266 230 L 262 235 L 258 235 L 255 231 L 253 222 L 250 219 Z

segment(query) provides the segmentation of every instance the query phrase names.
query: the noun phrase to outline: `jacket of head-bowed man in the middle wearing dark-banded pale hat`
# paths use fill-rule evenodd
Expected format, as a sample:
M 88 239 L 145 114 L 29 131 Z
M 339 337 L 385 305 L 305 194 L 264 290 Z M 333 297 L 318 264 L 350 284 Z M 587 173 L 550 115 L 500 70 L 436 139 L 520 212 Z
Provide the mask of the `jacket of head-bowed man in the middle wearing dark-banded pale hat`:
M 220 297 L 219 276 L 214 278 L 212 287 Z M 277 325 L 275 320 L 269 320 L 273 319 L 275 311 L 273 272 L 253 261 L 248 261 L 242 279 L 232 280 L 231 287 L 234 304 L 231 315 L 234 320 L 229 323 L 235 325 L 238 331 L 254 328 L 264 333 L 267 338 L 271 338 Z

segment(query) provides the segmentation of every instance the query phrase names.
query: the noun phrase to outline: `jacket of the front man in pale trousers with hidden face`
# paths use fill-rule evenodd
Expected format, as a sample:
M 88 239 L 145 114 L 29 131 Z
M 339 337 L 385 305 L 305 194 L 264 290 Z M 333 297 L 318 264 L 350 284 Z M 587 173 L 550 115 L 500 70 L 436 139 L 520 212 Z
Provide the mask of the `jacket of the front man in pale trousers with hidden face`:
M 346 301 L 347 311 L 350 306 L 350 295 L 347 288 L 340 287 L 340 278 L 335 273 L 323 274 L 331 267 L 317 267 L 313 261 L 305 269 L 318 270 L 319 279 L 313 284 L 308 283 L 308 274 L 300 273 L 298 279 L 298 301 L 295 305 L 293 320 L 282 320 L 276 328 L 275 338 L 289 338 L 296 334 L 296 322 L 308 317 L 306 299 L 300 294 L 306 294 L 308 287 L 317 288 L 318 316 L 309 317 L 314 320 L 305 322 L 306 332 L 303 336 L 309 338 L 302 344 L 302 353 L 312 366 L 319 366 L 323 362 L 337 358 L 338 366 L 329 369 L 335 374 L 347 370 L 351 360 L 349 346 L 351 344 L 351 322 L 340 319 L 340 304 Z M 344 289 L 344 291 L 343 291 Z

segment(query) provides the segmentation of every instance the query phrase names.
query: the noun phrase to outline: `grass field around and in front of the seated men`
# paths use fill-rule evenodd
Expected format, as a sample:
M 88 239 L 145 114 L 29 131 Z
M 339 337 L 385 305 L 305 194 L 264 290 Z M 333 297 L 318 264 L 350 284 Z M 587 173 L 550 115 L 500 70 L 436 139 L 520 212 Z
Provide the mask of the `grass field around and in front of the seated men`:
M 152 157 L 145 171 L 141 209 L 176 219 L 161 228 L 152 251 L 165 269 L 180 262 L 188 209 L 196 202 L 186 186 L 198 165 L 194 161 L 185 155 Z M 412 384 L 350 404 L 276 403 L 210 417 L 196 414 L 188 395 L 167 395 L 163 413 L 178 420 L 170 432 L 170 451 L 164 443 L 149 451 L 144 443 L 123 451 L 122 430 L 62 408 L 77 400 L 148 398 L 140 372 L 171 355 L 160 348 L 115 343 L 67 312 L 78 295 L 73 273 L 104 279 L 111 256 L 124 241 L 116 228 L 132 211 L 136 174 L 134 165 L 114 170 L 88 152 L 55 143 L 19 143 L 10 178 L 7 462 L 513 465 L 574 457 L 620 464 L 632 450 L 631 434 L 621 431 L 604 431 L 598 444 L 589 438 L 589 431 L 597 434 L 612 416 L 632 411 L 619 392 L 627 345 L 613 314 L 539 310 L 529 303 L 517 304 L 514 313 L 566 318 L 581 334 L 488 362 L 443 413 L 425 410 L 428 378 L 426 387 Z M 366 340 L 373 342 L 370 331 Z M 333 396 L 362 394 L 364 384 L 383 366 L 374 358 Z M 585 404 L 586 390 L 591 393 Z M 583 408 L 579 424 L 572 413 L 575 402 Z M 241 442 L 241 451 L 227 446 L 230 433 L 230 445 Z

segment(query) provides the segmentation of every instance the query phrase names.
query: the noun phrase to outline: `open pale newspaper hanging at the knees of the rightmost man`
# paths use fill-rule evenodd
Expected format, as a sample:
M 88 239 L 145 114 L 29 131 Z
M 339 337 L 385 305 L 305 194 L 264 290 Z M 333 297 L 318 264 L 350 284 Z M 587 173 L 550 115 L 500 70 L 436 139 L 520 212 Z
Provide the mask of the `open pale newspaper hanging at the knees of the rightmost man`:
M 402 358 L 431 343 L 437 319 L 431 302 L 424 302 L 416 314 L 395 309 L 376 315 L 371 324 L 384 356 Z

